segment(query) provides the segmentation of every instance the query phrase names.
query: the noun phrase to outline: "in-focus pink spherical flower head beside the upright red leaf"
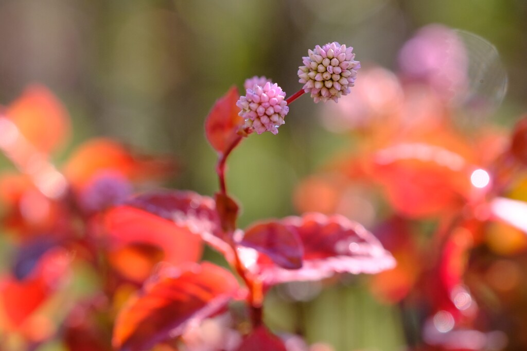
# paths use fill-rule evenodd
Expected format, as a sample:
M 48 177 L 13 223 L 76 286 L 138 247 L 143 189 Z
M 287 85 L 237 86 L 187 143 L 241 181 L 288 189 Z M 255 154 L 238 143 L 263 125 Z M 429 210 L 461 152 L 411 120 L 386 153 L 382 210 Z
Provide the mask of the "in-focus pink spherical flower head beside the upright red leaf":
M 236 105 L 241 109 L 239 115 L 245 119 L 244 129 L 254 130 L 258 134 L 269 131 L 278 133 L 278 127 L 284 124 L 284 117 L 289 112 L 285 100 L 286 93 L 278 84 L 254 84 L 246 90 Z

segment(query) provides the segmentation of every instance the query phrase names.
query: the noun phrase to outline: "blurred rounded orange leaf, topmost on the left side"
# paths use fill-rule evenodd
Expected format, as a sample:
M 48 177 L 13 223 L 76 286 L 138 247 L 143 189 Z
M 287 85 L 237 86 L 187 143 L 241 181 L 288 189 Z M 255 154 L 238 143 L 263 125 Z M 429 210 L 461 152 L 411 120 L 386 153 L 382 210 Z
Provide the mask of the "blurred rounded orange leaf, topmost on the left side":
M 70 132 L 64 106 L 42 85 L 30 85 L 8 106 L 7 117 L 36 149 L 50 153 Z

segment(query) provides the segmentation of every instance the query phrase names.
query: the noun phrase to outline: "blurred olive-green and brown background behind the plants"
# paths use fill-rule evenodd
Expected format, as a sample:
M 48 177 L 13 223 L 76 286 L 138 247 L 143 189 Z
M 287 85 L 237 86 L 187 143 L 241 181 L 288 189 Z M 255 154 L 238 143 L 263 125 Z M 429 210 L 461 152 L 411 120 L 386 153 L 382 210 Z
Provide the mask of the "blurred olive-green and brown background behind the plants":
M 467 65 L 485 72 L 479 82 L 492 110 L 476 111 L 470 123 L 511 126 L 527 108 L 525 18 L 525 0 L 0 0 L 0 104 L 42 83 L 73 121 L 57 163 L 104 135 L 172 155 L 179 170 L 167 187 L 212 194 L 216 155 L 203 121 L 214 101 L 254 75 L 295 93 L 301 57 L 317 44 L 338 41 L 354 47 L 363 67 L 398 71 L 399 52 L 419 28 L 460 30 L 469 44 L 483 43 L 467 45 Z M 227 179 L 242 203 L 240 226 L 295 214 L 296 184 L 348 147 L 349 138 L 321 124 L 323 109 L 302 96 L 278 135 L 253 135 L 232 154 Z M 352 282 L 300 307 L 271 295 L 270 325 L 287 329 L 308 318 L 310 342 L 397 349 L 404 343 L 397 309 Z

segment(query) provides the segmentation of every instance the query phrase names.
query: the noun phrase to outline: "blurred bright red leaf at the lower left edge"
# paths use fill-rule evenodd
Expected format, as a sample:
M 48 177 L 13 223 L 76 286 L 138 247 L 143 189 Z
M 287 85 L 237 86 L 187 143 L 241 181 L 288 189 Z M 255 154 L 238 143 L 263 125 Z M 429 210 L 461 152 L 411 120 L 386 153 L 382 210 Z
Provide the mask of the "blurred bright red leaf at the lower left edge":
M 60 286 L 71 256 L 62 248 L 48 250 L 24 280 L 7 277 L 0 282 L 0 302 L 13 326 L 21 326 Z

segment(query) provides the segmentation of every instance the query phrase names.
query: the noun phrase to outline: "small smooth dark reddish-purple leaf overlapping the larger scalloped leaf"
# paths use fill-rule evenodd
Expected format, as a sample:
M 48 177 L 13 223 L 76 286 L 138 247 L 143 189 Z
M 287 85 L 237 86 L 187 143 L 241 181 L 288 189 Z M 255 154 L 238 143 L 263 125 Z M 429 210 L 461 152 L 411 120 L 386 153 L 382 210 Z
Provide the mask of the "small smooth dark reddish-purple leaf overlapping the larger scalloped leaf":
M 302 267 L 302 243 L 295 229 L 279 222 L 260 223 L 245 231 L 240 244 L 264 253 L 280 267 Z

